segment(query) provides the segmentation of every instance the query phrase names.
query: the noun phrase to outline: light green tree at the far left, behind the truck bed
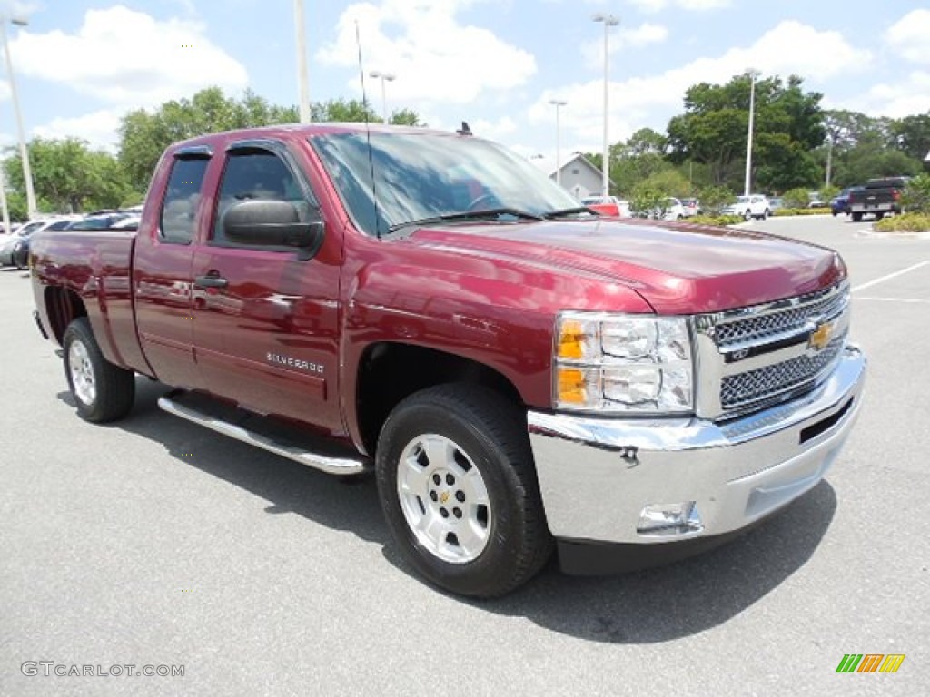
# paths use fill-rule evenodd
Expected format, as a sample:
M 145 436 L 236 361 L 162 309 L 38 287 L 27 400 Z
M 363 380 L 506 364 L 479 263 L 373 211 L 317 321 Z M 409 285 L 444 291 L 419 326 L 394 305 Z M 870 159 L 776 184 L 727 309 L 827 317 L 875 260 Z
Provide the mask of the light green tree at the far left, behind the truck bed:
M 130 187 L 122 167 L 108 152 L 92 151 L 80 138 L 33 138 L 29 145 L 33 187 L 40 209 L 76 213 L 122 203 Z M 24 191 L 20 156 L 5 164 L 10 184 Z

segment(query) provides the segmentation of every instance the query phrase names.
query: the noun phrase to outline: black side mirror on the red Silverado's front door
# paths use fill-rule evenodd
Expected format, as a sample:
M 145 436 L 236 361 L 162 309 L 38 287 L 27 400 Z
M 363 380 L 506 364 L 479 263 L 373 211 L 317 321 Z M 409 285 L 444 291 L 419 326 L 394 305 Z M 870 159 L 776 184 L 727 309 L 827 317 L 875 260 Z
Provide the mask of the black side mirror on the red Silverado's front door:
M 223 216 L 227 239 L 239 244 L 294 247 L 309 259 L 323 243 L 322 220 L 301 222 L 298 210 L 287 201 L 258 200 L 235 204 Z

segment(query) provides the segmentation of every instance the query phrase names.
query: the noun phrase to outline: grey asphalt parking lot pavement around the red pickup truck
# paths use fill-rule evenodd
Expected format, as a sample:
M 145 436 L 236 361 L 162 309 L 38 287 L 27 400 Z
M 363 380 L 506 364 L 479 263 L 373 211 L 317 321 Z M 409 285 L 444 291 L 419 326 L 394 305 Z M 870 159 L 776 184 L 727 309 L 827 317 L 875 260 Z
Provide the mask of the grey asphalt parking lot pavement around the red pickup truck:
M 839 249 L 870 358 L 828 479 L 737 542 L 492 602 L 398 558 L 373 481 L 340 484 L 158 410 L 81 421 L 28 280 L 0 270 L 0 695 L 930 694 L 930 239 L 752 229 Z M 897 674 L 836 674 L 903 653 Z M 183 665 L 25 676 L 24 662 Z

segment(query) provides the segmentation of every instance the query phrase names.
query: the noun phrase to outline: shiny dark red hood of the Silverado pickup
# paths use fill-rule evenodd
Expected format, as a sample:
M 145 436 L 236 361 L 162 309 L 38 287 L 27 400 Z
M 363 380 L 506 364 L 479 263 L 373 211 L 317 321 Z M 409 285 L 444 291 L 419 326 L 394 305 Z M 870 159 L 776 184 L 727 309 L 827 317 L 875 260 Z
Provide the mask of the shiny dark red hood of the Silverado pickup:
M 431 226 L 403 242 L 623 283 L 659 314 L 742 308 L 811 293 L 845 276 L 840 257 L 814 244 L 655 220 Z

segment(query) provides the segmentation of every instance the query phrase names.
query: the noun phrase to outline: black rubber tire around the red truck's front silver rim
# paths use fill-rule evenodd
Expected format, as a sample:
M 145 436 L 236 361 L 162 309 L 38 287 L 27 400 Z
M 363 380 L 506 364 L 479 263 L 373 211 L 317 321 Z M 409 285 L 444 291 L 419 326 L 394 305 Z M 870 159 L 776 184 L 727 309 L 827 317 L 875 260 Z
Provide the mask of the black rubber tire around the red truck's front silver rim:
M 419 476 L 431 490 L 429 496 L 425 492 L 421 496 L 413 488 L 408 492 L 408 501 L 416 499 L 422 518 L 427 519 L 432 513 L 432 519 L 436 520 L 439 506 L 446 502 L 450 502 L 448 506 L 456 505 L 451 496 L 432 498 L 434 503 L 427 500 L 436 491 L 434 482 L 443 482 L 445 487 L 442 473 L 451 471 L 443 469 L 442 462 L 430 462 L 425 450 L 418 451 L 420 439 L 436 437 L 455 446 L 453 459 L 457 464 L 461 463 L 458 455 L 464 454 L 468 466 L 477 469 L 486 491 L 485 546 L 473 559 L 441 559 L 411 529 L 401 503 L 398 470 L 403 466 L 402 455 L 409 451 L 419 453 L 411 459 L 423 467 Z M 437 469 L 442 475 L 439 480 L 435 479 Z M 551 557 L 552 539 L 539 495 L 525 414 L 489 389 L 443 385 L 421 390 L 401 401 L 381 428 L 376 473 L 381 508 L 395 543 L 434 585 L 463 596 L 493 598 L 524 584 Z M 464 484 L 461 486 L 464 490 Z M 462 495 L 457 500 L 466 501 L 464 508 L 468 502 Z M 455 496 L 458 497 L 458 492 Z M 480 519 L 480 512 L 477 515 Z M 458 546 L 455 525 L 467 520 L 461 520 L 461 511 L 457 517 L 460 520 L 444 514 L 448 523 L 436 520 L 443 529 L 439 535 L 447 546 Z

